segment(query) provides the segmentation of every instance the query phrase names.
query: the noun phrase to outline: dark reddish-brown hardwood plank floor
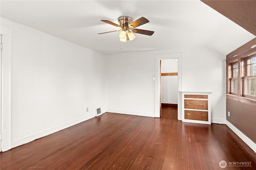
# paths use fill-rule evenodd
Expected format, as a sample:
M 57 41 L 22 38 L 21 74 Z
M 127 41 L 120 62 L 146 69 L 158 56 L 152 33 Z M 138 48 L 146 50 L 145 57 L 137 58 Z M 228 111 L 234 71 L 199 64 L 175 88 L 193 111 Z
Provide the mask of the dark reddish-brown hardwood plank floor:
M 176 107 L 161 118 L 104 113 L 0 156 L 1 170 L 256 169 L 256 153 L 226 125 L 182 123 Z

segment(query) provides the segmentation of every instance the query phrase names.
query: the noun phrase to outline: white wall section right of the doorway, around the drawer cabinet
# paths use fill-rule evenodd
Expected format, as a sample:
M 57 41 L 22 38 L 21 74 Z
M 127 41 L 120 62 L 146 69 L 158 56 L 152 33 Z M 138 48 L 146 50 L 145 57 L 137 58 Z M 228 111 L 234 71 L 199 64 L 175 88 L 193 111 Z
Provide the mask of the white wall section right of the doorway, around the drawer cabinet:
M 212 92 L 212 122 L 226 121 L 226 59 L 209 48 L 183 50 L 182 90 Z

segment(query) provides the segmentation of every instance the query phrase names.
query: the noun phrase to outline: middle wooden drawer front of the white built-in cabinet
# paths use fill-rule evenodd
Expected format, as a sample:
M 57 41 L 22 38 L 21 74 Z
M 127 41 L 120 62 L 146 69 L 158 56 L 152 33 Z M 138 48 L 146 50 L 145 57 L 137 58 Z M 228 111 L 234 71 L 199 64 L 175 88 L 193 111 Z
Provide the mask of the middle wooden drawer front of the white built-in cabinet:
M 208 100 L 184 100 L 184 108 L 208 110 Z

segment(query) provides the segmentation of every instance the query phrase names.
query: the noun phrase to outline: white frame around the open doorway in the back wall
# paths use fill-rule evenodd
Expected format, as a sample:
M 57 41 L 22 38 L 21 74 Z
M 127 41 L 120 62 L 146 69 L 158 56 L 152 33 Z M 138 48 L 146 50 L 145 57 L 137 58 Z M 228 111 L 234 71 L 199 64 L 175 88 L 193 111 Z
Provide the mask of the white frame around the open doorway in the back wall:
M 181 94 L 182 91 L 182 52 L 155 55 L 155 117 L 160 117 L 160 60 L 178 59 L 178 120 L 182 120 Z

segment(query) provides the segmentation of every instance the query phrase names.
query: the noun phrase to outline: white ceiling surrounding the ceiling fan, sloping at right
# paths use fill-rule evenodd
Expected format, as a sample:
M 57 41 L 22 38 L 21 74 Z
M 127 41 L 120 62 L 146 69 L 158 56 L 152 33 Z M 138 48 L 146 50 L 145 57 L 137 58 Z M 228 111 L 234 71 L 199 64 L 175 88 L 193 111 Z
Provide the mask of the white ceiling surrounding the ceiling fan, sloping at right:
M 130 53 L 208 45 L 224 55 L 255 36 L 198 0 L 1 0 L 0 15 L 61 39 L 104 54 Z M 137 27 L 152 36 L 119 41 L 118 17 L 140 17 L 150 22 Z M 121 49 L 122 47 L 122 49 Z

